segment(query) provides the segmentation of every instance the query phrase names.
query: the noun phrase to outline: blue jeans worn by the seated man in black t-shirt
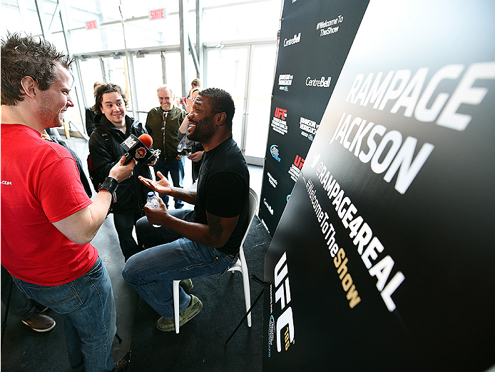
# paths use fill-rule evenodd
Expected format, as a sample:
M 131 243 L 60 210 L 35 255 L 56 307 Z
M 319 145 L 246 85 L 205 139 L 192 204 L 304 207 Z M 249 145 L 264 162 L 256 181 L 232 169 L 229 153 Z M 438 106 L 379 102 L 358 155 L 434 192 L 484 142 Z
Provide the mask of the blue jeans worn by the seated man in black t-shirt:
M 190 211 L 169 211 L 183 219 Z M 237 261 L 216 248 L 183 238 L 166 226 L 153 227 L 148 218 L 136 223 L 138 236 L 148 248 L 128 259 L 123 278 L 163 318 L 173 318 L 173 281 L 226 271 Z M 179 312 L 189 306 L 190 296 L 179 287 Z

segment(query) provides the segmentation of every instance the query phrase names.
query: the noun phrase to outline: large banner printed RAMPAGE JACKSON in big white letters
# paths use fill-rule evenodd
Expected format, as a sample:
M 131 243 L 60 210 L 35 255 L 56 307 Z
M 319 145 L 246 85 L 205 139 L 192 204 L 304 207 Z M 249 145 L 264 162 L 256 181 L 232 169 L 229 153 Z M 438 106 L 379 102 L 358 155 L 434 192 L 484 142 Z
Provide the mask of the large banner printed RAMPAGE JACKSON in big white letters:
M 494 14 L 369 3 L 265 258 L 265 371 L 494 366 Z

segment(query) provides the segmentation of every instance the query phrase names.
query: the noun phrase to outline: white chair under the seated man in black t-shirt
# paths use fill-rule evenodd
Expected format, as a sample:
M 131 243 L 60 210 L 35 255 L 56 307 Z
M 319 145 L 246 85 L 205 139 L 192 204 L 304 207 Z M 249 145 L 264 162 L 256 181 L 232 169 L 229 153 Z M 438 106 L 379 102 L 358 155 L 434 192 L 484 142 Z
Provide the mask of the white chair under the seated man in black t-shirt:
M 251 226 L 252 218 L 255 216 L 257 210 L 258 198 L 255 191 L 252 188 L 249 189 L 249 224 L 248 230 L 244 234 L 243 241 L 240 243 L 239 249 L 239 259 L 235 264 L 229 268 L 228 271 L 234 273 L 235 271 L 240 271 L 243 274 L 243 285 L 244 285 L 244 301 L 246 304 L 246 312 L 249 311 L 251 307 L 251 293 L 249 287 L 249 274 L 248 274 L 248 264 L 246 263 L 246 258 L 244 256 L 244 241 L 248 236 L 249 228 Z M 173 319 L 175 323 L 175 333 L 179 333 L 179 283 L 180 281 L 173 281 Z M 251 314 L 248 314 L 248 327 L 251 326 Z

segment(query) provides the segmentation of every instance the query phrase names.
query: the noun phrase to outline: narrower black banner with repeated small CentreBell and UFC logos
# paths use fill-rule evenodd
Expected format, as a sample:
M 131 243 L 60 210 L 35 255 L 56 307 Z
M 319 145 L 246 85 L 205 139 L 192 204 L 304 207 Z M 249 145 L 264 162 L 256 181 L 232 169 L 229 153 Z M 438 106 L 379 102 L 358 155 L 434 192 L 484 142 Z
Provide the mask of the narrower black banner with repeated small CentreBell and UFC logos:
M 258 213 L 272 236 L 367 4 L 285 1 Z

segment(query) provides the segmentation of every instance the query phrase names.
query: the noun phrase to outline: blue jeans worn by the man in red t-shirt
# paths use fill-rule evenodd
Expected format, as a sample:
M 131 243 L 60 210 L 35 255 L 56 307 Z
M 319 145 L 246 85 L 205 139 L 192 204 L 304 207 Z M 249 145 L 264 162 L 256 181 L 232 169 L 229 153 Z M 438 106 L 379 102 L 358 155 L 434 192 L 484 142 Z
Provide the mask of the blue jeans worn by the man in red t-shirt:
M 116 310 L 110 277 L 101 258 L 83 276 L 61 286 L 38 286 L 14 278 L 19 289 L 63 316 L 68 360 L 74 371 L 113 371 Z

